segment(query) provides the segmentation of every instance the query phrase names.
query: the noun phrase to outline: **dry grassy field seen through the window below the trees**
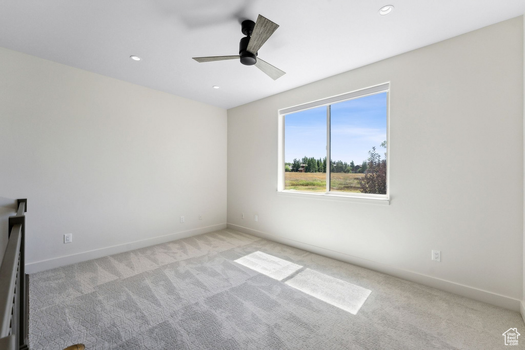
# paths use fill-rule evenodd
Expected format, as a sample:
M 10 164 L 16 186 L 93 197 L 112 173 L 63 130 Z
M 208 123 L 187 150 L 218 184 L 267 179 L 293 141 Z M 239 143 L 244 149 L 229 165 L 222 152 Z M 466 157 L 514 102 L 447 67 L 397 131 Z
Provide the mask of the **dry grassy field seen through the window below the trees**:
M 360 192 L 359 179 L 364 174 L 331 174 L 331 190 L 342 192 Z M 285 173 L 285 189 L 309 192 L 326 192 L 327 174 L 325 173 Z

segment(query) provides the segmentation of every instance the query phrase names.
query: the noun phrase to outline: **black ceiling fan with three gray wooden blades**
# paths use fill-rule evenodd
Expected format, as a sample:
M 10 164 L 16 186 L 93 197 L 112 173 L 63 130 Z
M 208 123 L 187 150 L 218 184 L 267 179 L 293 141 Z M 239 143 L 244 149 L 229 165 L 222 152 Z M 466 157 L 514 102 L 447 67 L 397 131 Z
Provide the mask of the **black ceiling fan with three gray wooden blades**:
M 276 80 L 286 73 L 270 65 L 270 63 L 257 58 L 257 51 L 259 51 L 261 46 L 266 43 L 266 40 L 274 34 L 277 28 L 279 28 L 279 25 L 261 15 L 257 17 L 257 22 L 255 23 L 253 20 L 244 20 L 243 23 L 241 23 L 241 30 L 246 36 L 240 39 L 239 55 L 193 57 L 193 59 L 197 62 L 212 62 L 240 58 L 240 62 L 243 63 L 243 65 L 255 65 L 255 67 L 266 73 L 267 76 Z

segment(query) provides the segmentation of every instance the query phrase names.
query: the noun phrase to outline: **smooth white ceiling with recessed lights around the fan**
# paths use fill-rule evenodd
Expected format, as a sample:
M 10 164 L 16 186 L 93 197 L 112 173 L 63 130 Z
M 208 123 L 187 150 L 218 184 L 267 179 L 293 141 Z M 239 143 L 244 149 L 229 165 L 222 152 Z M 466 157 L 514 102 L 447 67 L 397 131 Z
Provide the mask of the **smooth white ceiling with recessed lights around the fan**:
M 524 0 L 2 0 L 0 46 L 232 108 L 523 13 Z M 258 14 L 280 25 L 259 57 L 285 76 L 192 59 L 237 55 Z

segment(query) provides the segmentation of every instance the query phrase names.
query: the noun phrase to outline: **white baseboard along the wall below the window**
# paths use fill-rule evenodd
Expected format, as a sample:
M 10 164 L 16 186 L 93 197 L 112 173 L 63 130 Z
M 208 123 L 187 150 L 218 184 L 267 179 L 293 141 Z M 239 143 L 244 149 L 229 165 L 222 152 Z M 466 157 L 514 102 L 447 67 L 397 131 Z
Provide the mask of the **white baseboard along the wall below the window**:
M 439 290 L 443 290 L 443 291 L 454 293 L 454 294 L 461 295 L 461 296 L 466 296 L 467 298 L 485 302 L 491 305 L 500 306 L 508 310 L 520 312 L 520 309 L 521 309 L 522 317 L 525 314 L 525 312 L 523 311 L 524 310 L 523 304 L 521 303 L 520 300 L 513 299 L 505 295 L 500 295 L 500 294 L 488 292 L 485 290 L 477 289 L 474 287 L 469 287 L 468 285 L 463 285 L 463 284 L 459 284 L 459 283 L 455 283 L 455 282 L 451 282 L 447 280 L 442 280 L 442 279 L 435 278 L 435 277 L 430 277 L 428 275 L 421 274 L 418 272 L 399 269 L 393 266 L 382 264 L 380 262 L 375 262 L 375 261 L 366 260 L 363 258 L 354 257 L 349 254 L 342 253 L 342 252 L 309 245 L 308 243 L 299 242 L 299 241 L 281 237 L 278 235 L 267 234 L 266 232 L 253 230 L 253 229 L 243 227 L 243 226 L 227 224 L 227 227 L 229 229 L 237 230 L 239 232 L 243 232 L 248 235 L 268 239 L 268 240 L 282 243 L 282 244 L 285 244 L 291 247 L 295 247 L 295 248 L 306 250 L 312 253 L 316 253 L 316 254 L 319 254 L 319 255 L 322 255 L 328 258 L 348 262 L 356 266 L 364 267 L 364 268 L 374 270 L 377 272 L 382 272 L 382 273 L 385 273 L 385 274 L 388 274 L 388 275 L 391 275 L 397 278 L 401 278 L 404 280 L 408 280 L 411 282 L 428 285 L 428 287 L 436 288 Z M 525 321 L 525 317 L 524 317 L 524 321 Z

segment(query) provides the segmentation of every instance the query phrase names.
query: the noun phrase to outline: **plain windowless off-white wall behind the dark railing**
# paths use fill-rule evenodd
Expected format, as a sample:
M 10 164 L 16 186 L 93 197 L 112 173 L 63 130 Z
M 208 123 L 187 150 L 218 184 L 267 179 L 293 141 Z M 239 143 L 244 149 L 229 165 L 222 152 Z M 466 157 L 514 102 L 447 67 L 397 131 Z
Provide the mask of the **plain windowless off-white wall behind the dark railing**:
M 29 272 L 225 227 L 226 110 L 3 48 L 0 62 L 0 196 L 28 199 Z

